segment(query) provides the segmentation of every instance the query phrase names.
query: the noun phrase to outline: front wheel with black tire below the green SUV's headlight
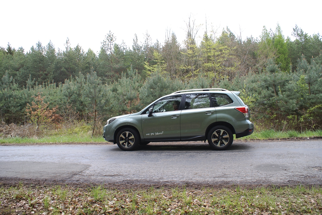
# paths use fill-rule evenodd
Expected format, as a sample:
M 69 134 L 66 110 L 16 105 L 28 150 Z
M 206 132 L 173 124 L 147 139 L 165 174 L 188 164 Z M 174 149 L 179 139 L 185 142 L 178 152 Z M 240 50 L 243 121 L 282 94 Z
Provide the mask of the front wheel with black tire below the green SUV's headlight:
M 133 151 L 140 145 L 140 135 L 134 129 L 124 128 L 116 135 L 116 143 L 124 151 Z

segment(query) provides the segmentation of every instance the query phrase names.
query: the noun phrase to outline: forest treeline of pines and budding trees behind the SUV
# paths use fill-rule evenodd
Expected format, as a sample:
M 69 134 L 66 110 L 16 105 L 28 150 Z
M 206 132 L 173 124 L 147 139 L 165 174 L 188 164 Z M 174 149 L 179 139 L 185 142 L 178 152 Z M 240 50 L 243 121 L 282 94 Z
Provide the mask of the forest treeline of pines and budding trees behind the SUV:
M 295 26 L 294 40 L 277 25 L 260 38 L 220 36 L 187 23 L 179 43 L 167 32 L 163 43 L 133 39 L 117 44 L 109 32 L 98 54 L 64 50 L 38 42 L 27 52 L 0 48 L 0 117 L 6 124 L 57 125 L 84 120 L 93 132 L 97 121 L 137 112 L 160 96 L 192 88 L 241 91 L 260 129 L 311 130 L 322 126 L 322 37 Z M 99 128 L 101 129 L 101 128 Z

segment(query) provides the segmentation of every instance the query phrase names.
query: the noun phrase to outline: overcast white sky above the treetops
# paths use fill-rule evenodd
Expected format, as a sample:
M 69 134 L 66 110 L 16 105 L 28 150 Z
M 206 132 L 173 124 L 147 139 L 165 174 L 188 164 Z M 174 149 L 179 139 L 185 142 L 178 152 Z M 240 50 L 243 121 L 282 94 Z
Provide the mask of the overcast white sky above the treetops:
M 8 42 L 26 51 L 40 41 L 50 40 L 55 49 L 64 49 L 67 37 L 71 47 L 79 44 L 85 51 L 98 52 L 109 31 L 117 43 L 124 40 L 132 47 L 134 34 L 140 42 L 148 32 L 152 42 L 163 43 L 166 30 L 173 31 L 180 43 L 185 39 L 185 22 L 191 14 L 195 24 L 201 24 L 199 38 L 205 31 L 226 26 L 242 38 L 259 37 L 263 26 L 275 30 L 279 23 L 285 37 L 297 24 L 309 35 L 322 33 L 321 0 L 311 1 L 36 1 L 0 0 L 0 46 Z M 291 37 L 292 38 L 292 37 Z M 200 39 L 199 39 L 200 40 Z

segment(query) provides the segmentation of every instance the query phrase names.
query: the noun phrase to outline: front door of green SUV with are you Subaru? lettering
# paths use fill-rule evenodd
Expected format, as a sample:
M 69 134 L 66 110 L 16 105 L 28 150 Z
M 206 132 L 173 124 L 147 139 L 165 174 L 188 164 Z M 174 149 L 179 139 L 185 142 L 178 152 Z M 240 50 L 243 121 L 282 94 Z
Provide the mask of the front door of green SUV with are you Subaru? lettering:
M 148 111 L 142 115 L 142 132 L 146 141 L 180 140 L 181 100 L 182 95 L 163 98 L 151 106 L 152 116 L 148 116 Z

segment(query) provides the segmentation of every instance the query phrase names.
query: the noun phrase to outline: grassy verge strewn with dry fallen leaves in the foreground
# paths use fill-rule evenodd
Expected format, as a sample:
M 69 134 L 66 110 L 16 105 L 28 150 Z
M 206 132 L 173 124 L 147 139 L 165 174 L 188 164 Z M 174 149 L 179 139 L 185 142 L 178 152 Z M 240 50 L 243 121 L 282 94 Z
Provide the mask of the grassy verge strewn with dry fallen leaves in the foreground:
M 319 214 L 322 189 L 0 187 L 0 214 Z M 315 192 L 312 192 L 313 191 Z M 95 191 L 95 192 L 94 192 Z

